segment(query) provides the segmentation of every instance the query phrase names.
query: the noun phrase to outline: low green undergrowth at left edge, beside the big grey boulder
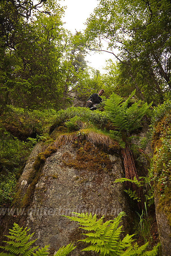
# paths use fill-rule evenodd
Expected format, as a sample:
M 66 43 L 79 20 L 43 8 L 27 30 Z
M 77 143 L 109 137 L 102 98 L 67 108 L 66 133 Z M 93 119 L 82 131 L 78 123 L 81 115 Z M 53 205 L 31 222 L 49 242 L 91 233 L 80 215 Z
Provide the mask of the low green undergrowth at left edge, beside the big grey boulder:
M 21 142 L 17 138 L 0 145 L 0 206 L 13 200 L 16 180 L 38 139 L 28 138 Z

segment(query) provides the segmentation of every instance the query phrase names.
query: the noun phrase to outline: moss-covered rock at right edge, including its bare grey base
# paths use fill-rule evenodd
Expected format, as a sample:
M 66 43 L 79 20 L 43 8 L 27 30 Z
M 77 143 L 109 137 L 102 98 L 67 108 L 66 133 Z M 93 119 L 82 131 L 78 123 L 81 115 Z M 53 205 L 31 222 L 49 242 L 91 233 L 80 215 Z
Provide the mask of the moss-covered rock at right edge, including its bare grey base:
M 171 251 L 171 113 L 167 113 L 153 128 L 154 201 L 161 255 Z

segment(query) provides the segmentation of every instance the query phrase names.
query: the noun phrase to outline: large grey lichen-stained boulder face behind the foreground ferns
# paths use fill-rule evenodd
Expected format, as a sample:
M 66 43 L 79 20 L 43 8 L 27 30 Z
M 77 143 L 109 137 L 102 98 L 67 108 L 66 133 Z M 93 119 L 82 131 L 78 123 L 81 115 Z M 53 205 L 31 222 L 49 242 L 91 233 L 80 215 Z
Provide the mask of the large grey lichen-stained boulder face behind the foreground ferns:
M 27 162 L 19 181 L 21 195 L 30 185 L 27 179 L 33 169 L 33 159 L 40 152 L 38 144 Z M 26 225 L 35 232 L 36 244 L 50 244 L 52 255 L 61 246 L 81 239 L 81 229 L 65 217 L 71 212 L 91 212 L 105 221 L 113 219 L 119 212 L 130 215 L 130 209 L 121 183 L 113 183 L 123 177 L 122 161 L 117 153 L 107 154 L 89 142 L 84 148 L 67 143 L 50 155 L 36 183 Z M 128 231 L 128 223 L 123 223 Z M 70 255 L 92 255 L 81 252 L 78 244 Z

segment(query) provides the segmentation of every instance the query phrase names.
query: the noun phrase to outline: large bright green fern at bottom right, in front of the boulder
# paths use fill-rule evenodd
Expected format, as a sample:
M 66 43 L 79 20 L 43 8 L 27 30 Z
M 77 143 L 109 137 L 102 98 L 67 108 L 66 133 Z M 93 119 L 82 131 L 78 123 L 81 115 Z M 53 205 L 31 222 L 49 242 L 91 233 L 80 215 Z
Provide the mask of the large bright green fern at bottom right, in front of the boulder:
M 103 217 L 97 220 L 96 214 L 92 217 L 91 213 L 74 213 L 76 217 L 65 216 L 70 220 L 78 222 L 81 229 L 87 231 L 81 239 L 84 243 L 90 244 L 82 251 L 96 251 L 100 255 L 157 255 L 158 247 L 155 246 L 151 251 L 147 251 L 148 242 L 141 247 L 134 243 L 134 235 L 126 235 L 122 240 L 119 235 L 122 233 L 122 226 L 119 226 L 121 218 L 125 215 L 121 212 L 114 220 L 108 220 L 103 223 Z

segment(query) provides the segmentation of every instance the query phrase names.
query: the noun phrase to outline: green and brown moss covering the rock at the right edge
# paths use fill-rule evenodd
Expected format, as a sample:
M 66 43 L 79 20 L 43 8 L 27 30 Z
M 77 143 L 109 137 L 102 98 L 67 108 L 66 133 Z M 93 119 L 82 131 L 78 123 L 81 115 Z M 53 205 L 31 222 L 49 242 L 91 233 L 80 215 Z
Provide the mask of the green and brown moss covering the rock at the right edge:
M 167 114 L 154 127 L 152 145 L 155 147 L 152 171 L 159 202 L 157 210 L 164 212 L 171 227 L 171 114 Z

